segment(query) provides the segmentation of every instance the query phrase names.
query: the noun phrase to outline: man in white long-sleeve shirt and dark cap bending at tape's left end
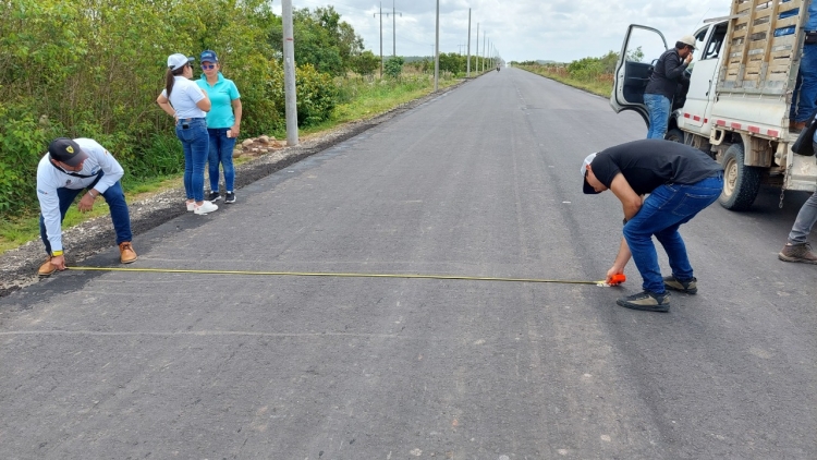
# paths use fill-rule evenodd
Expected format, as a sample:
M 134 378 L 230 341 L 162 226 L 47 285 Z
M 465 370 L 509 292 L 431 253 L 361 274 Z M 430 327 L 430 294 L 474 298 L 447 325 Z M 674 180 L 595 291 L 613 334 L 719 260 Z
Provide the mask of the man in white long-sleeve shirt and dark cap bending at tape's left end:
M 119 161 L 94 140 L 59 137 L 51 142 L 48 154 L 37 166 L 39 233 L 48 253 L 48 259 L 39 267 L 39 276 L 47 277 L 65 269 L 62 220 L 83 190 L 87 193 L 77 204 L 80 211 L 92 210 L 94 201 L 102 195 L 111 210 L 120 262 L 130 264 L 136 261 L 136 252 L 131 245 L 131 216 L 119 182 L 124 173 Z

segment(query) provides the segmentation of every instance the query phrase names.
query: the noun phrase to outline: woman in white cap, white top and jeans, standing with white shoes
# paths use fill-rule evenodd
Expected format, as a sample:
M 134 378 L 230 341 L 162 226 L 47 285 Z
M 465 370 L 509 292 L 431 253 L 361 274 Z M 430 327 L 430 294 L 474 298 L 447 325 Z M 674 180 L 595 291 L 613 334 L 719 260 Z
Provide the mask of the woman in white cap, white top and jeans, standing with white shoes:
M 164 89 L 156 102 L 175 119 L 175 135 L 184 149 L 187 210 L 200 215 L 219 207 L 204 198 L 204 166 L 209 148 L 205 117 L 210 110 L 210 98 L 190 80 L 193 76 L 191 62 L 194 60 L 182 53 L 168 57 Z

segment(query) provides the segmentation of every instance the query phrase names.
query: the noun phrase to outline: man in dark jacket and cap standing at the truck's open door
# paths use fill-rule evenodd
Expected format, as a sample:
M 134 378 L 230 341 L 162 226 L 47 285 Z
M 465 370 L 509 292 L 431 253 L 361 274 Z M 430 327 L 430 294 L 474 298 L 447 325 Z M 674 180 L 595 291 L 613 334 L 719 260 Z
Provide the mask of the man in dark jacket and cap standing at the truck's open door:
M 649 112 L 649 130 L 647 138 L 663 138 L 667 133 L 672 99 L 678 92 L 678 85 L 688 83 L 685 74 L 692 62 L 695 50 L 695 37 L 685 35 L 675 43 L 675 48 L 669 49 L 658 58 L 647 87 L 644 89 L 644 105 Z

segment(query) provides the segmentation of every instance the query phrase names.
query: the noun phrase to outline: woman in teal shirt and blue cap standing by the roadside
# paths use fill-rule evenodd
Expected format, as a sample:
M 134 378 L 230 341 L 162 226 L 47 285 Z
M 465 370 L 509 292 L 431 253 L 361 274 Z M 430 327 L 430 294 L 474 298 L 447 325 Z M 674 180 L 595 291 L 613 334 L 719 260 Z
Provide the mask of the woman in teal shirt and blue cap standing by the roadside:
M 221 74 L 221 64 L 216 51 L 202 52 L 202 78 L 196 81 L 198 87 L 206 90 L 212 102 L 207 113 L 207 133 L 210 135 L 210 154 L 208 157 L 210 174 L 210 194 L 208 199 L 217 202 L 219 194 L 219 165 L 224 170 L 224 203 L 235 203 L 235 168 L 233 167 L 233 148 L 241 129 L 241 95 L 232 80 Z

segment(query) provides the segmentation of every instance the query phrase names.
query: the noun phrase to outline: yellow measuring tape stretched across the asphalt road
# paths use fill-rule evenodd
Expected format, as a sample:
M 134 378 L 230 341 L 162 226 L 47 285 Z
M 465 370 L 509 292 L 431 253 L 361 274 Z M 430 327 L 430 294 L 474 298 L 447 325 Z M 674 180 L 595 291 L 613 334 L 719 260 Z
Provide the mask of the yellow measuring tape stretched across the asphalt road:
M 510 281 L 510 282 L 557 282 L 562 285 L 596 285 L 607 286 L 602 281 L 583 281 L 572 279 L 537 279 L 537 278 L 498 278 L 458 275 L 412 275 L 412 274 L 321 274 L 303 271 L 246 271 L 246 270 L 194 270 L 175 268 L 115 268 L 115 267 L 65 267 L 70 270 L 87 271 L 132 271 L 153 274 L 195 274 L 195 275 L 254 275 L 254 276 L 315 276 L 336 278 L 411 278 L 411 279 L 456 279 L 470 281 Z

